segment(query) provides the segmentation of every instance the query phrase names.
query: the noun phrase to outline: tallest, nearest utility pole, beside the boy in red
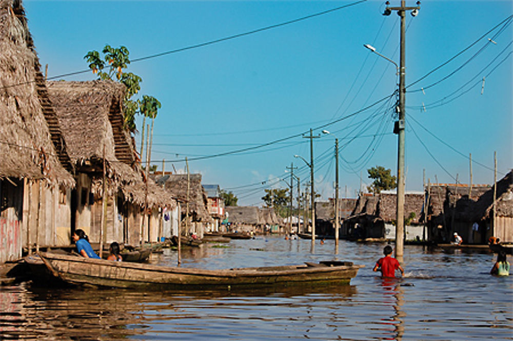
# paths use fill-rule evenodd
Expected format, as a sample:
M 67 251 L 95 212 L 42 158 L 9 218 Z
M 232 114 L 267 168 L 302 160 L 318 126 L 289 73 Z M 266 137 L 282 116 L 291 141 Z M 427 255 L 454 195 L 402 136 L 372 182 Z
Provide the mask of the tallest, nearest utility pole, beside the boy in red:
M 401 57 L 399 65 L 399 121 L 396 122 L 398 134 L 398 155 L 397 155 L 397 212 L 396 212 L 396 258 L 403 257 L 404 254 L 404 141 L 405 141 L 405 15 L 406 11 L 411 10 L 412 16 L 417 16 L 419 13 L 419 6 L 406 7 L 405 0 L 401 0 L 400 7 L 388 7 L 389 2 L 386 2 L 384 15 L 390 15 L 391 11 L 397 11 L 401 17 Z M 420 5 L 420 1 L 417 2 Z M 395 130 L 395 129 L 394 129 Z M 401 261 L 400 259 L 400 261 Z

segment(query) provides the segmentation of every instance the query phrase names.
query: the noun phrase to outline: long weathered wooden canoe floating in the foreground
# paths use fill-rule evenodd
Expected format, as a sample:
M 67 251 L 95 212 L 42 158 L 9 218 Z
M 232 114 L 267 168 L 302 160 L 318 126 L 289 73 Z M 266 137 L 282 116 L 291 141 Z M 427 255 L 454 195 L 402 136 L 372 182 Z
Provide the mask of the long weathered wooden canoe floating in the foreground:
M 203 270 L 40 253 L 55 277 L 75 285 L 115 288 L 201 289 L 349 283 L 363 265 L 326 261 L 299 266 Z

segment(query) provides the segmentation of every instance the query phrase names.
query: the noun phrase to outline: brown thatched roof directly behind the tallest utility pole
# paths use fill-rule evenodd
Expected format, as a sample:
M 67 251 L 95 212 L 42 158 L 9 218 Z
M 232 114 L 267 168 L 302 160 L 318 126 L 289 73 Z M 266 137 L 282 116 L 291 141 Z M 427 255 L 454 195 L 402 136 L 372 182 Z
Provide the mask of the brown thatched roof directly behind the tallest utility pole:
M 411 213 L 415 213 L 415 218 L 411 219 L 412 223 L 420 223 L 423 217 L 424 194 L 423 193 L 406 193 L 404 195 L 404 217 L 407 218 Z M 381 193 L 378 203 L 378 216 L 386 221 L 396 220 L 397 212 L 397 194 Z

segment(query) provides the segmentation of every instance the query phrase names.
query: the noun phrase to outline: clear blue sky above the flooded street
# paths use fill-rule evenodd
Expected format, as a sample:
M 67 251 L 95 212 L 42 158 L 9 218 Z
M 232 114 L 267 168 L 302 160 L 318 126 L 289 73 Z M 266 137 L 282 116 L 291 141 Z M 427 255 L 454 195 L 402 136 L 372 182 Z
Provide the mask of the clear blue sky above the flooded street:
M 40 62 L 55 77 L 87 69 L 84 55 L 106 44 L 124 45 L 138 59 L 352 3 L 27 0 L 24 6 Z M 422 190 L 423 169 L 426 181 L 468 183 L 469 153 L 473 183 L 493 181 L 494 151 L 498 178 L 511 169 L 513 26 L 504 20 L 512 4 L 426 0 L 418 16 L 407 14 L 406 85 L 436 69 L 407 87 L 407 191 Z M 367 168 L 397 174 L 390 98 L 396 69 L 363 47 L 371 44 L 399 64 L 399 16 L 383 16 L 384 6 L 362 2 L 130 64 L 128 71 L 143 79 L 140 95 L 162 103 L 152 163 L 161 168 L 166 160 L 166 171 L 183 172 L 187 157 L 203 183 L 234 192 L 240 205 L 261 205 L 264 188 L 287 187 L 280 179 L 289 181 L 291 163 L 304 189 L 309 168 L 294 155 L 309 160 L 309 140 L 301 135 L 313 128 L 314 135 L 327 129 L 340 140 L 341 197 L 371 182 Z M 334 141 L 321 135 L 314 140 L 315 190 L 326 199 L 333 197 Z M 135 140 L 139 145 L 139 134 Z M 252 149 L 211 157 L 245 148 Z

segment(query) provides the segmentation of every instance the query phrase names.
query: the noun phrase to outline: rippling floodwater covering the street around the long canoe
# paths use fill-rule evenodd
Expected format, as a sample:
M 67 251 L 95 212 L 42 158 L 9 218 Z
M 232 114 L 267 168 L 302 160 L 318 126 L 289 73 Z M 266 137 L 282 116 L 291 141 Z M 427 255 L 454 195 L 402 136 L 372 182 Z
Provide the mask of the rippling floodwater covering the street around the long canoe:
M 384 244 L 258 237 L 185 249 L 182 267 L 349 260 L 350 285 L 248 291 L 137 292 L 0 288 L 1 339 L 468 340 L 513 338 L 513 276 L 489 275 L 495 255 L 405 246 L 405 278 L 372 272 Z M 151 262 L 175 266 L 176 252 Z M 511 262 L 512 259 L 508 257 Z

